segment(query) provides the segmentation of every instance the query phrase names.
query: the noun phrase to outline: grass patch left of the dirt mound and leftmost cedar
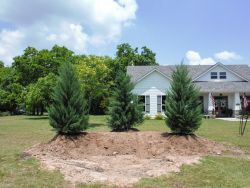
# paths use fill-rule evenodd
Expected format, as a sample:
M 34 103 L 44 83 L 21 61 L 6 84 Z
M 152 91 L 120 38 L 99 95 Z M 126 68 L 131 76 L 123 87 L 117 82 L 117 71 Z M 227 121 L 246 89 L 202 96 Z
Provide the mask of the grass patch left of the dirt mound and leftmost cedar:
M 63 187 L 59 172 L 42 170 L 35 159 L 23 159 L 22 152 L 54 133 L 48 119 L 25 116 L 0 118 L 0 187 Z

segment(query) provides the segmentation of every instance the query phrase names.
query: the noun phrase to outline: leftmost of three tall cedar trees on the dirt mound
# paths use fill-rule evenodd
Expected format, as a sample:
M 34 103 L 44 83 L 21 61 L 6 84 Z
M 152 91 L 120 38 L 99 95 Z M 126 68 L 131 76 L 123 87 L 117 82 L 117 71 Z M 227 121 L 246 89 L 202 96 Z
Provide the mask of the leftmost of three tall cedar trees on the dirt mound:
M 86 101 L 75 71 L 63 63 L 49 108 L 50 125 L 59 134 L 79 134 L 88 126 Z

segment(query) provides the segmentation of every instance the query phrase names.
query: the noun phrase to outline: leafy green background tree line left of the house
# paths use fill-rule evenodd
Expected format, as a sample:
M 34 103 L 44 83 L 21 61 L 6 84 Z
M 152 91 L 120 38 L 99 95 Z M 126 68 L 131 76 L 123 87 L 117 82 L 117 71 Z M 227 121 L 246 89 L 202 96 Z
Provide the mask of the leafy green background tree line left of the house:
M 43 115 L 52 102 L 52 90 L 63 62 L 73 64 L 88 101 L 90 114 L 105 114 L 110 91 L 119 72 L 129 65 L 157 65 L 155 53 L 147 47 L 117 46 L 114 58 L 76 55 L 66 47 L 37 50 L 27 47 L 10 67 L 0 61 L 0 111 Z

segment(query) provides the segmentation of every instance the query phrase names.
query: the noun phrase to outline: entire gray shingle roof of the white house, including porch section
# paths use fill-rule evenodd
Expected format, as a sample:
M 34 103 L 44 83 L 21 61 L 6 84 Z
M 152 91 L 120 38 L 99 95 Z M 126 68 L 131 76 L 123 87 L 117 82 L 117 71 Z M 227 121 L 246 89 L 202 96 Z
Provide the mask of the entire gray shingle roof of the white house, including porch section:
M 206 72 L 213 65 L 188 65 L 189 74 L 192 79 Z M 248 65 L 224 65 L 231 71 L 238 75 L 250 80 L 250 67 Z M 159 70 L 161 73 L 171 77 L 174 65 L 167 66 L 128 66 L 127 73 L 131 76 L 133 82 L 138 81 L 140 78 L 153 70 Z M 202 92 L 250 92 L 249 82 L 195 82 Z

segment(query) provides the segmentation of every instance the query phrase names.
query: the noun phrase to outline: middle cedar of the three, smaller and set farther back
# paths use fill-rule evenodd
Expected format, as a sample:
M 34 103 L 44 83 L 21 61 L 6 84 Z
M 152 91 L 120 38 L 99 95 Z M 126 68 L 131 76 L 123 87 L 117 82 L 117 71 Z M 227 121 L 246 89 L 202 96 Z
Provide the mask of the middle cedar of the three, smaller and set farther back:
M 139 105 L 137 96 L 132 93 L 133 89 L 130 77 L 119 72 L 108 108 L 108 125 L 113 131 L 128 131 L 143 122 L 142 106 Z

